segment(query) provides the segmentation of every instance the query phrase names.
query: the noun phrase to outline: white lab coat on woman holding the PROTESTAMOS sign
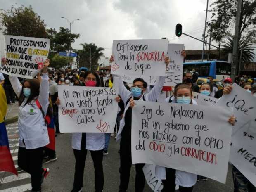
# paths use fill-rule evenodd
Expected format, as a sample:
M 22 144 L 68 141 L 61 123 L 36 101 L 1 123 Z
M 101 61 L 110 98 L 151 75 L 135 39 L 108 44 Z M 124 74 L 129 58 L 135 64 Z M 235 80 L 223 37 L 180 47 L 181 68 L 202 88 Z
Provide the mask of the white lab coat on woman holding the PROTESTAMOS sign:
M 45 115 L 49 105 L 49 81 L 47 73 L 43 74 L 42 82 L 40 84 L 40 93 L 37 97 Z M 9 76 L 14 92 L 19 97 L 22 86 L 19 79 L 14 76 Z M 49 137 L 45 119 L 42 111 L 36 105 L 36 98 L 31 103 L 26 104 L 26 98 L 19 107 L 19 146 L 26 149 L 37 149 L 49 144 Z

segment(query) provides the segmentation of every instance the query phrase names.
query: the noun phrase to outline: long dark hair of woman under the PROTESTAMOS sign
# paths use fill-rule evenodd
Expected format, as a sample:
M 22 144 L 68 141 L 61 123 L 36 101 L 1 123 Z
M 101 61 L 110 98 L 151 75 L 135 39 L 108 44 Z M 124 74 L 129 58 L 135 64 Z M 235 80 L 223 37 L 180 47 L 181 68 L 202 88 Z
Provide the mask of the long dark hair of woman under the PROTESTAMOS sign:
M 35 97 L 37 97 L 39 95 L 39 88 L 40 88 L 40 82 L 37 79 L 26 79 L 24 81 L 29 83 L 30 86 L 30 95 L 28 97 L 28 100 L 26 101 L 26 103 L 23 105 L 23 107 L 30 103 Z M 21 94 L 19 96 L 19 106 L 21 106 L 21 104 L 24 102 L 25 96 L 23 93 L 23 88 L 24 88 L 24 83 L 22 85 L 22 90 L 21 90 Z

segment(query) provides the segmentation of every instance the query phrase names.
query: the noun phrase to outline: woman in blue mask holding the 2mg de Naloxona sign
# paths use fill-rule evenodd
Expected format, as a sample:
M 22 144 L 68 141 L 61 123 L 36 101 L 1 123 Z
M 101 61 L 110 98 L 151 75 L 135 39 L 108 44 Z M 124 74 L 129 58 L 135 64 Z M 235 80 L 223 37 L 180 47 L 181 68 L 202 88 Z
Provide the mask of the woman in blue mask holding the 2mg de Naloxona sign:
M 170 99 L 167 98 L 166 102 L 170 102 Z M 197 102 L 192 99 L 192 89 L 187 84 L 176 85 L 174 98 L 172 98 L 171 102 L 178 104 L 197 104 Z M 228 122 L 234 125 L 235 118 L 231 116 Z M 160 167 L 156 166 L 156 168 Z M 156 172 L 161 174 L 161 171 L 162 169 Z M 161 192 L 175 192 L 176 184 L 179 185 L 180 192 L 192 192 L 193 186 L 197 181 L 197 175 L 171 168 L 165 168 L 164 171 L 166 171 L 166 180 L 162 180 L 164 187 Z

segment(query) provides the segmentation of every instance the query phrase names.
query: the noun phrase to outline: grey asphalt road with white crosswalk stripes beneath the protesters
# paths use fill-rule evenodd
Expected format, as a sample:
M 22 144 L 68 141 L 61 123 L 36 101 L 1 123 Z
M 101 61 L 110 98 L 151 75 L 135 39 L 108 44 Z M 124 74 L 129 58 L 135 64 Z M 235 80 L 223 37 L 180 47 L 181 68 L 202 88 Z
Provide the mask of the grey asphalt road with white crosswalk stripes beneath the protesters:
M 9 142 L 14 163 L 17 164 L 18 129 L 17 123 L 7 126 Z M 104 192 L 118 192 L 119 186 L 119 144 L 111 138 L 109 155 L 104 156 Z M 73 186 L 74 156 L 71 149 L 71 134 L 58 134 L 56 137 L 56 152 L 58 160 L 45 164 L 50 168 L 50 174 L 42 185 L 42 192 L 70 192 Z M 83 192 L 94 192 L 94 168 L 90 153 L 85 166 Z M 132 167 L 128 192 L 134 192 L 135 167 Z M 31 190 L 30 175 L 22 172 L 18 177 L 10 173 L 0 173 L 0 192 L 28 192 Z M 194 187 L 194 192 L 232 192 L 232 174 L 229 167 L 226 185 L 209 179 L 200 181 Z M 152 192 L 147 186 L 144 192 Z

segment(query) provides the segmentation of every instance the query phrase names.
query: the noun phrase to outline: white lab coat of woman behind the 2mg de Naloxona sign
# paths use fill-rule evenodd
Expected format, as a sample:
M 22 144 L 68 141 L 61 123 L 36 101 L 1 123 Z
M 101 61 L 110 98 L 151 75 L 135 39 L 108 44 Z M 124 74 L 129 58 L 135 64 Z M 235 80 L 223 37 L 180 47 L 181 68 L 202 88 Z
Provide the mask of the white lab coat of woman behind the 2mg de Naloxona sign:
M 170 97 L 166 98 L 166 102 L 169 102 Z M 173 101 L 172 103 L 175 103 L 175 97 L 171 98 Z M 196 104 L 197 102 L 195 100 L 192 100 L 192 104 Z M 156 166 L 156 176 L 159 178 L 165 178 L 166 172 L 165 168 L 162 166 Z M 194 173 L 188 173 L 185 171 L 176 170 L 176 181 L 175 184 L 182 186 L 182 187 L 192 187 L 197 183 L 197 175 Z

